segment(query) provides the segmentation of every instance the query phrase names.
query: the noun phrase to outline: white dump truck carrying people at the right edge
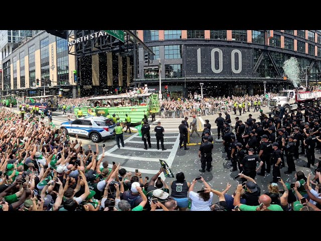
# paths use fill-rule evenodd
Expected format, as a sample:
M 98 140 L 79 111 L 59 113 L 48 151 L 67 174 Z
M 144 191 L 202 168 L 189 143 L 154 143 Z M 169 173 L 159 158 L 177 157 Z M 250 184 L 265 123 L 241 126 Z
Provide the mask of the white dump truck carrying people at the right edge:
M 287 112 L 295 110 L 297 107 L 306 108 L 309 106 L 321 107 L 321 90 L 303 91 L 297 89 L 283 90 L 278 96 L 268 101 L 268 107 L 273 109 L 281 104 Z

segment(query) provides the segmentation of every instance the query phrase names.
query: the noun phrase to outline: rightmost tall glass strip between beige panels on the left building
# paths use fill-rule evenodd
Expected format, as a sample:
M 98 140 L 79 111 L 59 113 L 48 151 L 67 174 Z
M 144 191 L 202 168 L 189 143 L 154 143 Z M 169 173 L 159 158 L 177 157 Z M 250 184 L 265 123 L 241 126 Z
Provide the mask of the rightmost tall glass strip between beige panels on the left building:
M 69 84 L 68 41 L 57 37 L 57 84 Z

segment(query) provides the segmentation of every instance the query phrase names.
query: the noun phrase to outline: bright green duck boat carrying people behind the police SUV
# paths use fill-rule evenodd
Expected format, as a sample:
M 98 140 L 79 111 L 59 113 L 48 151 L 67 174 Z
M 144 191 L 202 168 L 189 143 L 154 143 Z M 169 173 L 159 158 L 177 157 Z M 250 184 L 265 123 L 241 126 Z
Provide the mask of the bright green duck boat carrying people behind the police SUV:
M 144 114 L 148 117 L 150 113 L 159 112 L 158 94 L 146 93 L 130 96 L 128 93 L 98 96 L 88 99 L 87 106 L 74 107 L 74 113 L 77 116 L 81 109 L 83 115 L 105 116 L 112 114 L 119 116 L 120 122 L 125 122 L 125 114 L 131 118 L 132 125 L 139 125 Z

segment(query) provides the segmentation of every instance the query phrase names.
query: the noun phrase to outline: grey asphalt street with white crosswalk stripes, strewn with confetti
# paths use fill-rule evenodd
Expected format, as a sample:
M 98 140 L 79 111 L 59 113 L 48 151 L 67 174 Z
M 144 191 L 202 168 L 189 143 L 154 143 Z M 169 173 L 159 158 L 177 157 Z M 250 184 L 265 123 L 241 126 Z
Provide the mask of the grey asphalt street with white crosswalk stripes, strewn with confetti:
M 269 110 L 267 107 L 262 107 L 264 113 L 268 113 Z M 237 112 L 238 113 L 238 112 Z M 256 118 L 259 121 L 259 113 L 254 112 L 251 109 L 251 112 L 235 115 L 234 112 L 230 112 L 232 126 L 235 125 L 235 117 L 238 116 L 242 119 L 243 122 L 248 118 L 248 114 L 251 113 L 252 118 Z M 218 114 L 198 116 L 198 127 L 199 129 L 205 123 L 205 119 L 209 119 L 210 124 L 212 125 L 212 134 L 214 140 L 217 138 L 217 127 L 215 119 L 218 117 Z M 225 118 L 224 113 L 222 117 Z M 189 118 L 189 123 L 192 122 L 192 117 Z M 225 160 L 225 153 L 222 153 L 223 146 L 221 142 L 214 141 L 214 149 L 213 149 L 213 162 L 211 172 L 206 171 L 205 173 L 199 172 L 201 168 L 200 158 L 198 157 L 199 144 L 201 142 L 201 138 L 198 138 L 195 134 L 194 137 L 190 140 L 190 145 L 188 147 L 190 150 L 184 150 L 184 148 L 179 148 L 179 130 L 178 126 L 181 124 L 183 118 L 161 118 L 156 116 L 156 121 L 150 124 L 150 130 L 153 130 L 157 125 L 157 121 L 161 121 L 161 125 L 165 129 L 165 148 L 166 151 L 157 150 L 156 149 L 156 139 L 153 131 L 151 131 L 151 149 L 148 150 L 143 149 L 143 142 L 141 137 L 138 136 L 137 132 L 132 132 L 132 134 L 124 133 L 124 148 L 117 148 L 115 139 L 105 140 L 98 143 L 99 153 L 102 153 L 102 145 L 105 144 L 105 160 L 109 161 L 109 166 L 111 167 L 112 162 L 120 163 L 121 167 L 125 168 L 127 171 L 134 172 L 135 169 L 139 169 L 143 176 L 148 176 L 149 179 L 159 171 L 161 168 L 161 164 L 159 163 L 159 159 L 165 160 L 174 175 L 178 172 L 184 172 L 186 180 L 188 182 L 192 182 L 192 180 L 200 175 L 211 185 L 212 188 L 222 191 L 225 189 L 227 183 L 232 184 L 231 189 L 229 190 L 229 194 L 232 194 L 237 184 L 239 184 L 238 180 L 235 180 L 234 177 L 238 174 L 238 171 L 230 172 L 232 167 L 230 166 L 231 162 Z M 67 115 L 62 115 L 61 113 L 53 114 L 53 122 L 58 127 L 62 122 L 67 121 Z M 201 124 L 201 125 L 200 125 Z M 203 130 L 203 128 L 202 128 Z M 199 131 L 200 134 L 202 131 Z M 88 144 L 91 145 L 92 150 L 95 150 L 95 144 L 91 142 L 89 139 L 79 138 L 85 150 L 88 149 Z M 75 140 L 71 137 L 71 140 Z M 320 151 L 317 151 L 315 154 L 315 159 L 320 157 Z M 300 155 L 299 159 L 294 161 L 296 165 L 297 171 L 303 171 L 305 175 L 307 175 L 311 170 L 314 170 L 315 166 L 311 169 L 303 167 L 306 164 L 307 159 L 304 155 Z M 317 162 L 317 160 L 316 160 Z M 295 181 L 294 172 L 292 174 L 284 174 L 283 172 L 287 170 L 287 167 L 281 169 L 281 178 L 284 182 L 293 182 Z M 164 179 L 164 174 L 161 175 L 162 179 Z M 170 186 L 171 182 L 175 180 L 174 178 L 166 178 L 166 183 Z M 267 186 L 269 182 L 272 181 L 272 172 L 266 173 L 265 176 L 256 176 L 256 182 L 261 187 L 261 193 L 267 191 Z M 202 183 L 198 181 L 195 189 L 200 190 L 202 187 Z M 281 187 L 281 185 L 279 185 Z M 218 201 L 217 197 L 214 197 L 214 201 Z

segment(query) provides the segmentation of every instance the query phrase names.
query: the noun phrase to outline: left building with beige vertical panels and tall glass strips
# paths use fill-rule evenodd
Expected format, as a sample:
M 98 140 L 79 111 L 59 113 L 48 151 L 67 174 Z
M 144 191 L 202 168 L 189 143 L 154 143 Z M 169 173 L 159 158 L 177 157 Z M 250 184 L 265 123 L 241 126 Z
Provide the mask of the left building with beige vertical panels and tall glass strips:
M 76 58 L 69 54 L 68 40 L 46 31 L 31 31 L 33 36 L 28 34 L 9 55 L 4 54 L 8 49 L 2 52 L 5 56 L 2 60 L 2 94 L 75 97 L 73 71 L 76 70 Z

